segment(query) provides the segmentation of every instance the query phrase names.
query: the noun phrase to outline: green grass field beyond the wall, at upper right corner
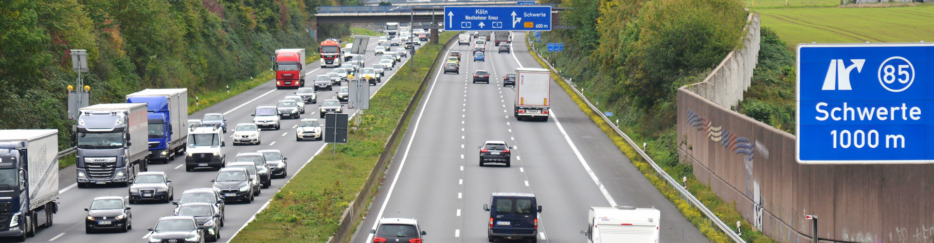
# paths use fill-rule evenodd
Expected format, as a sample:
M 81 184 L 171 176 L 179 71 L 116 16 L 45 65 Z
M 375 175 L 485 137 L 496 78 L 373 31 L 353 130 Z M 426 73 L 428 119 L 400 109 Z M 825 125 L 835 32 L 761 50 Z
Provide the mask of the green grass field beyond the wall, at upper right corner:
M 771 27 L 789 48 L 811 42 L 934 41 L 932 4 L 917 7 L 756 8 L 754 11 L 761 16 L 762 26 Z

